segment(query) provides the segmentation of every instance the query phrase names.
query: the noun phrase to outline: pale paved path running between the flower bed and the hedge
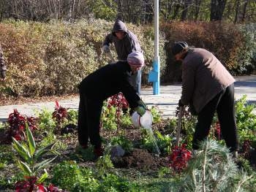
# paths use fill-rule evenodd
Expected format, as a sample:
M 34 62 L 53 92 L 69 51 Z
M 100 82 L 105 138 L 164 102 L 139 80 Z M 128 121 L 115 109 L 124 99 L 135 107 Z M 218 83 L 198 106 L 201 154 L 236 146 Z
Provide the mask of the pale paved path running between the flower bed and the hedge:
M 236 100 L 240 99 L 241 96 L 246 95 L 249 103 L 256 104 L 256 75 L 236 77 L 235 83 L 235 97 Z M 141 92 L 141 98 L 148 105 L 157 106 L 158 110 L 162 112 L 163 118 L 170 118 L 175 115 L 175 110 L 178 104 L 178 99 L 181 96 L 181 84 L 177 85 L 162 85 L 160 86 L 160 94 L 153 95 L 153 88 L 144 88 Z M 72 99 L 61 100 L 59 104 L 63 107 L 78 110 L 79 98 L 75 96 Z M 8 105 L 0 107 L 0 121 L 7 119 L 8 114 L 13 112 L 13 109 L 23 115 L 34 115 L 35 110 L 41 110 L 42 108 L 53 111 L 55 102 L 45 102 L 37 104 L 20 104 L 20 105 Z

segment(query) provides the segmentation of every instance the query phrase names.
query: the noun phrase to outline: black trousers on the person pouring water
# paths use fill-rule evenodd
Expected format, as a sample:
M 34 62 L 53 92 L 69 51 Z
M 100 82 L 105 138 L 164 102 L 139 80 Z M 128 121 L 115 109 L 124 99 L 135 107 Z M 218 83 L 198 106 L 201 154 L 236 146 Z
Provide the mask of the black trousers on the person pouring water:
M 78 109 L 78 142 L 80 145 L 88 145 L 90 140 L 94 147 L 101 147 L 99 126 L 102 106 L 103 101 L 89 99 L 85 93 L 80 92 Z

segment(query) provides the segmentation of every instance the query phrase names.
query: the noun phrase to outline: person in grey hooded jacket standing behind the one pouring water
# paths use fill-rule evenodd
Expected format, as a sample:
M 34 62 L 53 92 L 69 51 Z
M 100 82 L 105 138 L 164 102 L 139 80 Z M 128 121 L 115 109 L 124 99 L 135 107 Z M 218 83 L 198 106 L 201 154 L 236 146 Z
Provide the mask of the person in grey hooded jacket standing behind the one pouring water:
M 127 29 L 127 26 L 121 21 L 116 20 L 113 25 L 112 32 L 105 37 L 102 50 L 104 53 L 110 53 L 110 44 L 113 43 L 116 48 L 118 61 L 127 61 L 127 56 L 132 52 L 142 53 L 138 38 L 131 31 Z M 132 75 L 132 85 L 140 95 L 141 89 L 141 70 L 138 70 Z

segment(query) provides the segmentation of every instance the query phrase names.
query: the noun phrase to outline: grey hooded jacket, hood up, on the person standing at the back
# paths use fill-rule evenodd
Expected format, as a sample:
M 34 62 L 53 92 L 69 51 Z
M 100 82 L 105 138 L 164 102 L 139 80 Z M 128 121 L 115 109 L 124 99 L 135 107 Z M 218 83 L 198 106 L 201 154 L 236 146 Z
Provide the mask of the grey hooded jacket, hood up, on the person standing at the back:
M 115 34 L 116 31 L 124 31 L 124 38 L 118 39 Z M 111 43 L 116 47 L 116 53 L 119 61 L 126 61 L 129 53 L 135 51 L 142 52 L 138 38 L 131 31 L 127 30 L 127 26 L 125 26 L 121 20 L 116 20 L 112 33 L 107 35 L 103 45 L 110 46 Z

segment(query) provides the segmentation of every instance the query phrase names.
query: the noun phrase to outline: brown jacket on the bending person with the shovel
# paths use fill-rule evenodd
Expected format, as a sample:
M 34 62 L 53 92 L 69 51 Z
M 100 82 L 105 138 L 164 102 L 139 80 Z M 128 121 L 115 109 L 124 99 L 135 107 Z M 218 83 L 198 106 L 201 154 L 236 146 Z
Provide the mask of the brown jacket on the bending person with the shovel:
M 225 66 L 210 52 L 189 49 L 182 64 L 182 104 L 200 112 L 223 88 L 235 82 Z

